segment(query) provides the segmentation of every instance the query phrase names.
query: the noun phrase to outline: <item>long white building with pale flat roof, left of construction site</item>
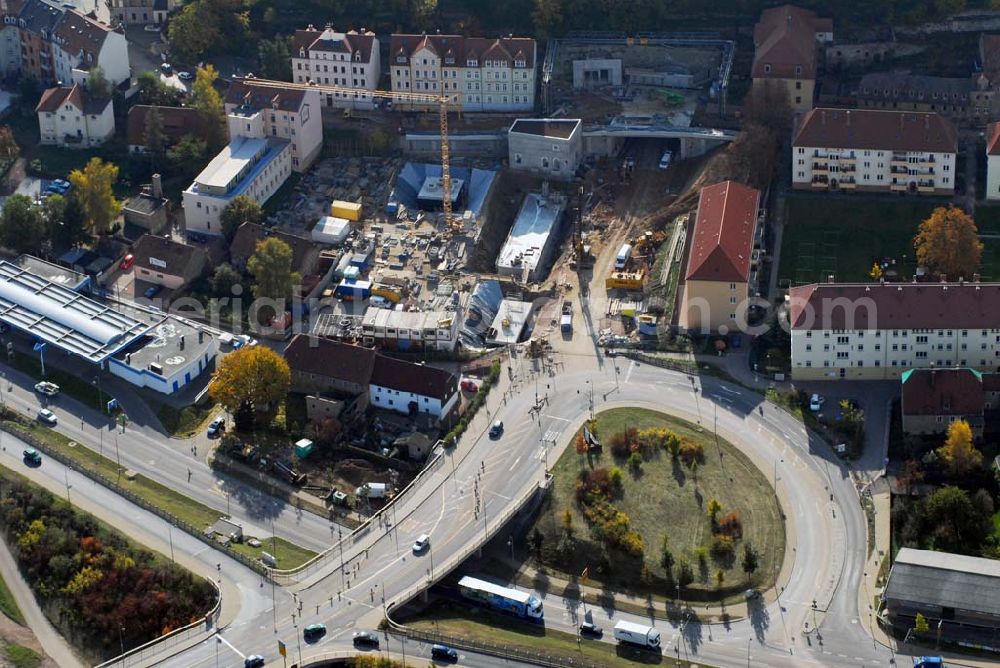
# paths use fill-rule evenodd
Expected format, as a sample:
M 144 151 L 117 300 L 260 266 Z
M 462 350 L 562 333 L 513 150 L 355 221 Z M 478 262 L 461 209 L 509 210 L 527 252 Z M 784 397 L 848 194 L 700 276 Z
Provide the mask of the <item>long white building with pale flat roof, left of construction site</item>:
M 230 128 L 232 120 L 230 116 Z M 287 139 L 234 136 L 184 191 L 187 230 L 220 236 L 219 216 L 234 197 L 247 195 L 263 204 L 291 173 L 292 145 Z

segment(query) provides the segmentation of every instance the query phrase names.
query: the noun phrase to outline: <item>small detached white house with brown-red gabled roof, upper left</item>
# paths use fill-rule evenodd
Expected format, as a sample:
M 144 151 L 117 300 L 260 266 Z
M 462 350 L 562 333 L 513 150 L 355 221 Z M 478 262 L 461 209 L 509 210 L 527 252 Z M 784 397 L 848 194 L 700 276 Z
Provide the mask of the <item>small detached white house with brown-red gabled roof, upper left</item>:
M 115 133 L 111 98 L 94 99 L 80 84 L 48 89 L 35 111 L 42 144 L 90 148 Z

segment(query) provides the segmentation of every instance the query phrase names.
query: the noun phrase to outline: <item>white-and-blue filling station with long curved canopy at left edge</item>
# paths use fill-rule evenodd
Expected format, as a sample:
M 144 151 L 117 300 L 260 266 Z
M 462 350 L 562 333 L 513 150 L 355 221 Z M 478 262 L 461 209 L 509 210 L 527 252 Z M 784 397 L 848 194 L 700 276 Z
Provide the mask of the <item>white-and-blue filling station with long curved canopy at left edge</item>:
M 155 310 L 112 306 L 85 297 L 25 267 L 0 262 L 0 321 L 104 368 L 138 387 L 172 394 L 201 375 L 217 343 L 204 330 Z

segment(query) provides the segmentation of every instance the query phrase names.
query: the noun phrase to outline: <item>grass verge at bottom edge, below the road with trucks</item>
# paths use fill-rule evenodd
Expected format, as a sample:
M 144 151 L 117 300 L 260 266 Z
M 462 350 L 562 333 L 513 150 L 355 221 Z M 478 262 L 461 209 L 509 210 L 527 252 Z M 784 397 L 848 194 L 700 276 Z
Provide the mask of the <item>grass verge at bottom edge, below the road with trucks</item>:
M 438 603 L 424 612 L 400 621 L 421 631 L 440 633 L 472 643 L 537 653 L 541 657 L 552 657 L 556 660 L 573 659 L 585 666 L 626 668 L 652 663 L 688 668 L 692 665 L 687 661 L 661 656 L 659 653 L 644 652 L 638 648 L 587 638 L 578 639 L 578 636 L 571 633 L 553 631 L 507 615 L 451 602 Z M 660 630 L 661 642 L 666 642 L 669 638 L 669 634 L 664 631 Z M 605 637 L 610 637 L 611 629 L 604 629 L 604 634 Z

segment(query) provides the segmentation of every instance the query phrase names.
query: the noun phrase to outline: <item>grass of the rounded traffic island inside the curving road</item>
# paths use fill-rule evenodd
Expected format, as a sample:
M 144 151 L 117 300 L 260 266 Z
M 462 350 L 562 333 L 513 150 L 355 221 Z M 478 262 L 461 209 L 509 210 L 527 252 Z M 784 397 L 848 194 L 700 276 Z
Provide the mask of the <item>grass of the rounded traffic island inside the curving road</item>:
M 682 441 L 687 439 L 704 447 L 705 461 L 697 470 L 697 481 L 692 471 L 679 461 L 674 461 L 665 451 L 657 451 L 644 461 L 638 476 L 627 470 L 624 462 L 615 461 L 608 443 L 613 434 L 627 427 L 646 429 L 665 427 Z M 785 529 L 777 498 L 769 476 L 757 470 L 735 447 L 715 437 L 708 431 L 698 431 L 696 425 L 672 418 L 656 411 L 640 408 L 619 408 L 597 415 L 597 430 L 605 444 L 604 453 L 592 457 L 568 449 L 556 463 L 551 493 L 539 511 L 534 528 L 544 541 L 542 563 L 554 569 L 557 577 L 571 580 L 584 568 L 589 569 L 594 586 L 605 586 L 616 591 L 649 595 L 654 600 L 674 595 L 668 590 L 666 573 L 660 566 L 660 546 L 664 534 L 669 537 L 669 548 L 677 562 L 685 559 L 695 573 L 695 582 L 687 588 L 685 598 L 717 600 L 743 591 L 746 576 L 740 568 L 743 542 L 749 541 L 760 555 L 760 564 L 753 576 L 753 585 L 769 587 L 780 570 L 785 552 Z M 575 499 L 578 475 L 593 467 L 617 465 L 625 470 L 622 493 L 612 502 L 614 507 L 628 515 L 631 528 L 645 543 L 644 555 L 639 558 L 624 554 L 609 555 L 610 572 L 598 572 L 598 555 L 603 551 L 588 531 L 588 523 Z M 736 543 L 735 558 L 718 562 L 711 556 L 705 567 L 700 567 L 699 547 L 708 547 L 713 539 L 711 522 L 707 514 L 710 499 L 722 504 L 720 517 L 730 511 L 740 513 L 743 524 L 743 541 Z M 562 535 L 562 516 L 569 509 L 575 528 L 575 549 L 568 561 L 557 555 L 559 536 Z M 529 529 L 530 536 L 533 529 Z M 648 568 L 651 580 L 641 582 L 642 567 Z M 721 591 L 716 587 L 715 573 L 722 570 L 725 576 Z M 677 566 L 674 567 L 674 573 Z

